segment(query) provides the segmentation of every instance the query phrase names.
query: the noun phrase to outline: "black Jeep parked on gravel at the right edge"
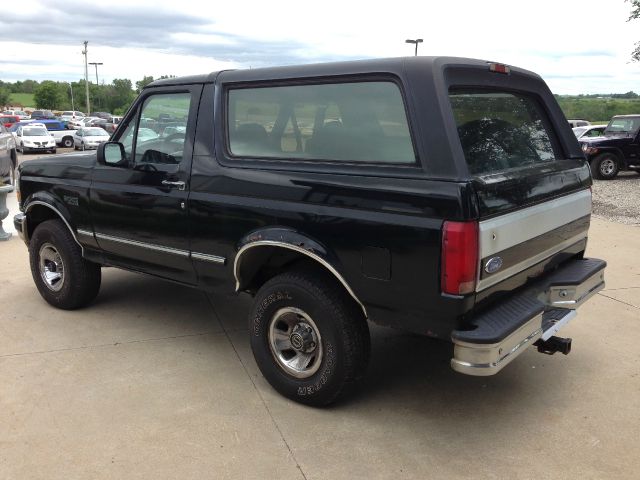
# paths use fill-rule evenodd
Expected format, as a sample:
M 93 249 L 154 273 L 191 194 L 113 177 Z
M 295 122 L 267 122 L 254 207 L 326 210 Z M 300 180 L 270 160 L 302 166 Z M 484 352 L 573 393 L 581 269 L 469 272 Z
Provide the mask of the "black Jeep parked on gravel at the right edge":
M 610 180 L 621 170 L 640 173 L 640 115 L 616 115 L 601 137 L 581 138 L 593 176 Z

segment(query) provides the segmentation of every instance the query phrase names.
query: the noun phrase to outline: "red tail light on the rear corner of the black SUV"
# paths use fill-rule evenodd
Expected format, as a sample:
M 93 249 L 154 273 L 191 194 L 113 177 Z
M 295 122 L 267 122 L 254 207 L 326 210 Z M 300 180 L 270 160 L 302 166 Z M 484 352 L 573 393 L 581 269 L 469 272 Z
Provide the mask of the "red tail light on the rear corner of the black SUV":
M 444 222 L 440 285 L 443 293 L 466 295 L 476 288 L 478 223 Z

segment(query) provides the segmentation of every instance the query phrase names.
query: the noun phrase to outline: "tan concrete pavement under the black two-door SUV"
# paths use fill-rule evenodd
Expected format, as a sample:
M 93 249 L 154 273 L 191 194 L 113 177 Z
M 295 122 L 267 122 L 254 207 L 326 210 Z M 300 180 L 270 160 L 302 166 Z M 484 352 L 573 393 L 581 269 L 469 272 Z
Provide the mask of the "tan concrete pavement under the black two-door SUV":
M 562 331 L 566 357 L 529 349 L 467 377 L 450 345 L 372 327 L 359 393 L 313 409 L 262 378 L 247 298 L 104 269 L 92 306 L 55 310 L 14 236 L 0 242 L 0 479 L 637 479 L 639 247 L 637 226 L 592 220 L 607 287 Z

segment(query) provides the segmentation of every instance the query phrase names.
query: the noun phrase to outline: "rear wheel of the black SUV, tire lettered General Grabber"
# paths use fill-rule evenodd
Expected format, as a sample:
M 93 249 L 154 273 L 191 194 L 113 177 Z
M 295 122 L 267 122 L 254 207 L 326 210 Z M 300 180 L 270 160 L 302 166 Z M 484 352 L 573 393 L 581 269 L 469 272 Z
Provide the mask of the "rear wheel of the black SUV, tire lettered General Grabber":
M 291 271 L 266 282 L 256 295 L 249 332 L 254 358 L 267 381 L 306 405 L 336 401 L 364 375 L 369 361 L 369 329 L 362 310 L 322 271 Z M 279 335 L 289 341 L 280 342 L 280 349 L 275 346 Z M 296 358 L 303 360 L 300 369 L 283 363 Z

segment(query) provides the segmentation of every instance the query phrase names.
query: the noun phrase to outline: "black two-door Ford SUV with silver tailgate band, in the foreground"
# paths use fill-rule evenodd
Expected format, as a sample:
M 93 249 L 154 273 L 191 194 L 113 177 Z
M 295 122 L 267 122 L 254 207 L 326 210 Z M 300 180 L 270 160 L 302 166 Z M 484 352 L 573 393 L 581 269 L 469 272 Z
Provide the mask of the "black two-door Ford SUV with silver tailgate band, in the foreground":
M 452 342 L 469 375 L 568 353 L 555 333 L 604 286 L 590 186 L 537 75 L 413 57 L 155 82 L 96 153 L 20 165 L 14 224 L 59 308 L 101 266 L 253 295 L 262 373 L 325 405 L 367 321 Z

